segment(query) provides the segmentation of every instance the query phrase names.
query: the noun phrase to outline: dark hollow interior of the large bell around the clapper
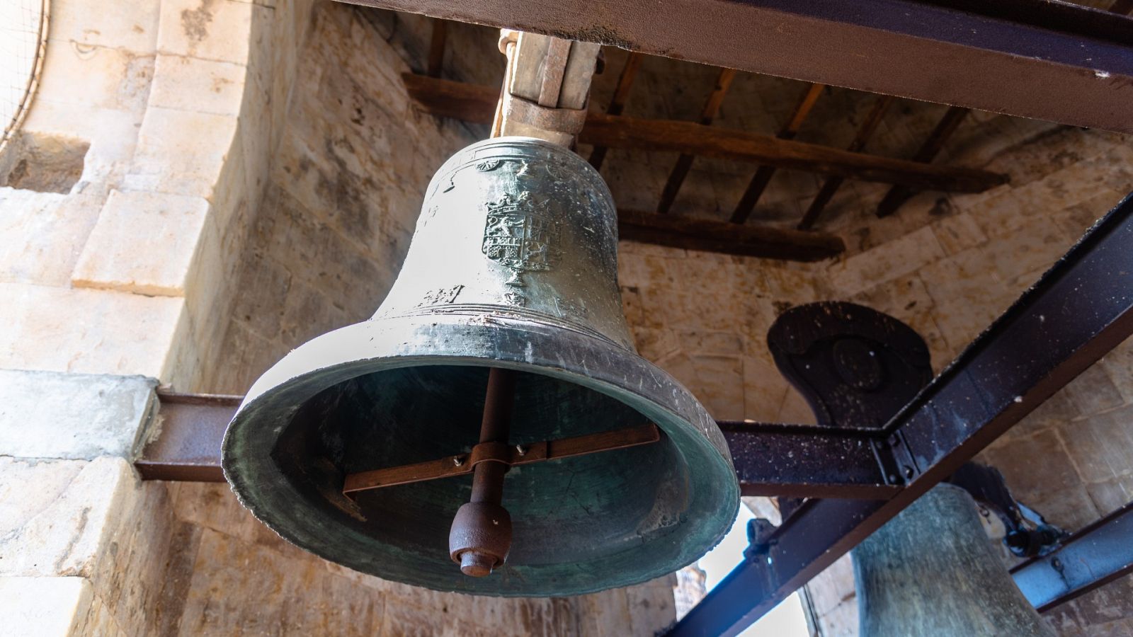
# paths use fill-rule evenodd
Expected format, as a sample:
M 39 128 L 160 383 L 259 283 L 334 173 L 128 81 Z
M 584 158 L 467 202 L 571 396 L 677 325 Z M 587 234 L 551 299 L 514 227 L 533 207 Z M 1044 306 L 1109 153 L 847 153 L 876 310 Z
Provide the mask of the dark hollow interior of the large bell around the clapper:
M 365 491 L 356 494 L 356 503 L 340 490 L 346 474 L 470 450 L 479 441 L 487 380 L 488 367 L 427 365 L 340 382 L 295 411 L 271 458 L 309 506 L 369 538 L 374 553 L 366 561 L 381 562 L 389 572 L 391 561 L 403 560 L 415 580 L 459 578 L 448 536 L 457 509 L 471 493 L 470 475 Z M 516 383 L 509 442 L 648 422 L 615 398 L 526 372 Z M 664 434 L 641 447 L 512 467 L 502 504 L 511 513 L 514 536 L 500 570 L 585 568 L 638 547 L 684 521 L 689 483 L 687 462 Z

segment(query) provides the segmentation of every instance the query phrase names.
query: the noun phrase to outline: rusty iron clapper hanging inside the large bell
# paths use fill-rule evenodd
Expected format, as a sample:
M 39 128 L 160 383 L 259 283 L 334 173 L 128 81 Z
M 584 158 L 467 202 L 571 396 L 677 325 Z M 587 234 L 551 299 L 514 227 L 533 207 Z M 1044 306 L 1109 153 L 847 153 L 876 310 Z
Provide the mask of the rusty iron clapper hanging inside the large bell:
M 511 370 L 492 367 L 484 398 L 480 444 L 506 443 L 516 397 L 516 375 Z M 471 500 L 457 510 L 449 532 L 449 554 L 460 570 L 484 577 L 503 564 L 511 549 L 511 516 L 500 502 L 503 475 L 509 465 L 502 461 L 478 462 L 472 472 Z

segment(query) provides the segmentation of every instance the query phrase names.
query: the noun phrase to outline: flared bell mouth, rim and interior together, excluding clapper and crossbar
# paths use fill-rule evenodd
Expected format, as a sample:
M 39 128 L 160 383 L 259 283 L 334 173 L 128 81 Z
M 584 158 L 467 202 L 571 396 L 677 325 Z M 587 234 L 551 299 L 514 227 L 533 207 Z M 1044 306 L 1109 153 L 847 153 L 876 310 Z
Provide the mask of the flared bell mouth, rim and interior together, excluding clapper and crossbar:
M 470 478 L 342 495 L 347 474 L 443 458 L 477 442 L 489 367 L 517 375 L 509 442 L 656 424 L 642 447 L 512 467 L 508 561 L 467 577 L 448 551 Z M 384 579 L 480 595 L 576 595 L 659 577 L 731 527 L 739 487 L 704 408 L 634 353 L 529 321 L 372 320 L 292 351 L 229 425 L 225 476 L 283 538 Z

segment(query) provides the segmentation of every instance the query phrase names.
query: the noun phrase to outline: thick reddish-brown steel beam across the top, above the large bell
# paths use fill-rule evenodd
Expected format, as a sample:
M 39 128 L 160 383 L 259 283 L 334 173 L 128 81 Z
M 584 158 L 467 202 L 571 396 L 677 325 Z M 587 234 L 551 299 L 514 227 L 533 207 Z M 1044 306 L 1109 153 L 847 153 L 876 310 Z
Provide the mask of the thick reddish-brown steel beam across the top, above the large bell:
M 353 0 L 683 60 L 1131 133 L 1133 20 L 1041 0 Z

